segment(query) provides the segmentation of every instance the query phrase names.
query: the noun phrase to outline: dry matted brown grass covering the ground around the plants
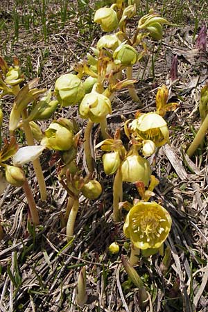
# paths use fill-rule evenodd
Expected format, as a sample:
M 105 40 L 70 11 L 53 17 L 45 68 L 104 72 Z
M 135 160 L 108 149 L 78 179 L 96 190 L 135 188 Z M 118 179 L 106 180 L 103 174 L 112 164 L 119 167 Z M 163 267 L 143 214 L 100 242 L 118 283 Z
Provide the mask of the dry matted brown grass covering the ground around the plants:
M 7 12 L 12 17 L 13 1 L 10 1 L 11 6 L 6 6 L 7 2 L 1 1 L 5 3 L 1 14 Z M 156 2 L 162 6 L 159 1 Z M 166 18 L 171 19 L 173 12 L 177 12 L 174 1 L 165 3 Z M 180 16 L 184 16 L 182 20 L 189 21 L 189 25 L 167 28 L 162 43 L 152 42 L 150 56 L 146 56 L 135 69 L 136 77 L 142 77 L 137 84 L 137 92 L 143 103 L 141 110 L 148 112 L 155 109 L 157 87 L 168 83 L 171 60 L 173 55 L 178 55 L 179 79 L 173 84 L 171 95 L 179 98 L 180 106 L 166 115 L 171 145 L 160 148 L 150 159 L 153 174 L 160 181 L 155 190 L 155 200 L 161 202 L 173 218 L 171 234 L 165 243 L 171 246 L 171 267 L 163 276 L 159 270 L 162 259 L 158 255 L 150 259 L 141 257 L 140 265 L 136 267 L 150 294 L 146 308 L 150 312 L 206 312 L 208 305 L 207 143 L 204 150 L 198 151 L 191 160 L 184 159 L 183 153 L 193 140 L 191 127 L 197 130 L 200 124 L 198 99 L 202 85 L 207 82 L 207 55 L 198 55 L 193 51 L 196 28 L 193 16 L 196 16 L 199 3 L 195 6 L 189 1 L 184 3 L 187 3 L 186 10 L 180 12 Z M 101 35 L 99 28 L 94 25 L 86 32 L 80 32 L 80 19 L 83 17 L 77 3 L 72 4 L 78 15 L 73 19 L 68 16 L 63 28 L 58 24 L 58 15 L 55 15 L 53 19 L 57 18 L 57 27 L 53 29 L 51 26 L 46 42 L 43 40 L 42 26 L 35 26 L 29 31 L 21 26 L 16 42 L 8 40 L 9 34 L 12 38 L 12 27 L 10 33 L 1 30 L 1 54 L 10 60 L 15 53 L 28 78 L 40 76 L 41 86 L 51 87 L 60 74 L 72 71 L 73 64 L 83 58 L 92 44 L 89 37 L 94 37 L 95 43 Z M 54 12 L 56 10 L 60 10 L 58 4 Z M 177 13 L 179 15 L 179 10 Z M 179 22 L 182 23 L 181 20 Z M 202 22 L 199 21 L 197 31 Z M 12 25 L 7 18 L 6 24 L 9 23 Z M 84 18 L 82 23 L 85 24 Z M 157 51 L 154 63 L 152 51 Z M 11 103 L 12 99 L 3 98 L 3 133 L 6 136 Z M 117 94 L 113 114 L 108 118 L 112 133 L 137 109 L 137 103 L 132 103 L 127 92 Z M 55 119 L 58 116 L 73 116 L 80 129 L 83 128 L 76 107 L 60 110 Z M 46 125 L 42 126 L 46 128 Z M 96 139 L 98 128 L 94 127 L 94 146 L 98 143 Z M 21 133 L 19 144 L 24 144 Z M 101 155 L 97 152 L 96 177 L 103 184 L 105 192 L 96 201 L 80 198 L 76 235 L 70 243 L 67 243 L 65 229 L 60 225 L 67 205 L 67 193 L 56 178 L 55 166 L 49 168 L 50 157 L 50 153 L 45 153 L 41 159 L 49 191 L 47 202 L 39 200 L 33 170 L 28 172 L 40 213 L 40 227 L 34 229 L 27 226 L 28 207 L 21 188 L 8 187 L 0 199 L 0 218 L 5 231 L 0 245 L 0 311 L 141 311 L 138 289 L 127 283 L 128 277 L 121 266 L 121 254 L 128 257 L 129 250 L 123 235 L 123 223 L 114 224 L 112 221 L 112 180 L 103 173 Z M 81 162 L 82 148 L 79 157 Z M 134 194 L 132 185 L 125 184 L 125 200 L 132 200 Z M 116 256 L 107 251 L 113 241 L 117 241 L 121 247 Z M 87 304 L 81 309 L 75 299 L 78 272 L 83 266 L 87 269 L 89 296 Z

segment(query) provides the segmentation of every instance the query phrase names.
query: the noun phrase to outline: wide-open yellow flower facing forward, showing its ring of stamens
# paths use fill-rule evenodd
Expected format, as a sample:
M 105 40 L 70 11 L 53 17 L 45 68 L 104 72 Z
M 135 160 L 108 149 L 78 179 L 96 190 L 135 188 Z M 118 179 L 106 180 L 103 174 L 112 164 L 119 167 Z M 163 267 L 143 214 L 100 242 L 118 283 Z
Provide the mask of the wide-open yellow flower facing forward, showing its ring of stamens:
M 171 230 L 171 216 L 156 202 L 138 202 L 128 212 L 123 232 L 135 248 L 159 248 Z

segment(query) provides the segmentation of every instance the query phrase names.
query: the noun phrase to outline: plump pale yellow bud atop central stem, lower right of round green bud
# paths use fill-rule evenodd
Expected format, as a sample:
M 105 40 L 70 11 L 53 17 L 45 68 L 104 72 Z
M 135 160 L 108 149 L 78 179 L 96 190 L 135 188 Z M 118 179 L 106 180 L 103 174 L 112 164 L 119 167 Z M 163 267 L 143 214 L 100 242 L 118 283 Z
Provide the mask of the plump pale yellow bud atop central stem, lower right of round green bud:
M 99 123 L 103 117 L 112 113 L 111 102 L 107 96 L 98 93 L 86 94 L 79 107 L 80 116 Z

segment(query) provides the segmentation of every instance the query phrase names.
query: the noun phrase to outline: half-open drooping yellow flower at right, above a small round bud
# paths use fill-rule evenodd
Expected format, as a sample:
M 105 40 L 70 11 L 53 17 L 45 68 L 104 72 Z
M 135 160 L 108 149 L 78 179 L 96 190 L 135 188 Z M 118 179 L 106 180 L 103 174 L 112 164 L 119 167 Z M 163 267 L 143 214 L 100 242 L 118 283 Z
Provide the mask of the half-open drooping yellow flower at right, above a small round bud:
M 142 140 L 151 140 L 159 147 L 169 142 L 166 121 L 155 112 L 141 114 L 130 124 L 130 130 Z

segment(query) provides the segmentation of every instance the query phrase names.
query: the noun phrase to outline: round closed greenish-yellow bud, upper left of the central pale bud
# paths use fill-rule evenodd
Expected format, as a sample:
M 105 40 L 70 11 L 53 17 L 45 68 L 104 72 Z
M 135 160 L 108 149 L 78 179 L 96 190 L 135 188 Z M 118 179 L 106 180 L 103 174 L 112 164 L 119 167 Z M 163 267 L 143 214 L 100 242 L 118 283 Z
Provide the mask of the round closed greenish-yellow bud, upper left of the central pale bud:
M 80 78 L 72 73 L 66 73 L 55 81 L 55 94 L 60 105 L 75 105 L 85 95 L 85 89 Z

